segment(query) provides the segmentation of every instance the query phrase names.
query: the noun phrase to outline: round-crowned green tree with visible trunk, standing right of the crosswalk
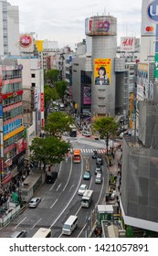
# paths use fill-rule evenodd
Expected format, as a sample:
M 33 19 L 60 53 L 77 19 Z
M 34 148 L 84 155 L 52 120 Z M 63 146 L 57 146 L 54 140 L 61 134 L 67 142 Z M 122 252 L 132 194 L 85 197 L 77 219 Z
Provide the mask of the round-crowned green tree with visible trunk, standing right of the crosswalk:
M 111 135 L 114 135 L 117 132 L 118 124 L 113 117 L 101 117 L 95 121 L 93 128 L 100 133 L 102 139 L 105 139 L 108 155 L 109 140 Z

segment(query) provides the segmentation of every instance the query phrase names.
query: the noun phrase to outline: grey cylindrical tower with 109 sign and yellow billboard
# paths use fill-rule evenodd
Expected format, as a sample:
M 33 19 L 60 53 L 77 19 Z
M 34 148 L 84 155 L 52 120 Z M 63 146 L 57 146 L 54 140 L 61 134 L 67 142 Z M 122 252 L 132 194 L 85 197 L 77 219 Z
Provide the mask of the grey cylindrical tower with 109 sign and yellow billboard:
M 91 114 L 114 116 L 117 19 L 114 16 L 88 17 L 85 34 L 91 37 Z

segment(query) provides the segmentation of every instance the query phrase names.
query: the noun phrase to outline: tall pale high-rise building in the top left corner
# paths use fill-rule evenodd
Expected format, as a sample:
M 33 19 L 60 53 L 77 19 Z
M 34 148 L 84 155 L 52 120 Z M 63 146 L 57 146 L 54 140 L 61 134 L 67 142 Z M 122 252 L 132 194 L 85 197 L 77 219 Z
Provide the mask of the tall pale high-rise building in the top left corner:
M 0 56 L 19 55 L 19 11 L 18 6 L 7 0 L 0 1 Z

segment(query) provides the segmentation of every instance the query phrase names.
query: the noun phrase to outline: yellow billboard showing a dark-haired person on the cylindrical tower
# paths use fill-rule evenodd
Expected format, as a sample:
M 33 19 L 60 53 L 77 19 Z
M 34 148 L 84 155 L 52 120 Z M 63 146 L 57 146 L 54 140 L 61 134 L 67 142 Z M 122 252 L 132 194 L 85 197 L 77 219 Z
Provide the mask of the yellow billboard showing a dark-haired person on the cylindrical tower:
M 111 85 L 111 59 L 94 59 L 94 84 Z

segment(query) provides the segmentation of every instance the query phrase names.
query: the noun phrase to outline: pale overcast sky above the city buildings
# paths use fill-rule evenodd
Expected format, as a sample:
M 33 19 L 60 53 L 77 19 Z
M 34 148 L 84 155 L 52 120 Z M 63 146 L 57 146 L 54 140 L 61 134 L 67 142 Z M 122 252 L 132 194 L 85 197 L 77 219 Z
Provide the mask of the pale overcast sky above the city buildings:
M 37 39 L 70 46 L 85 38 L 85 18 L 117 17 L 120 37 L 140 37 L 142 0 L 7 0 L 19 6 L 20 32 L 35 32 Z

